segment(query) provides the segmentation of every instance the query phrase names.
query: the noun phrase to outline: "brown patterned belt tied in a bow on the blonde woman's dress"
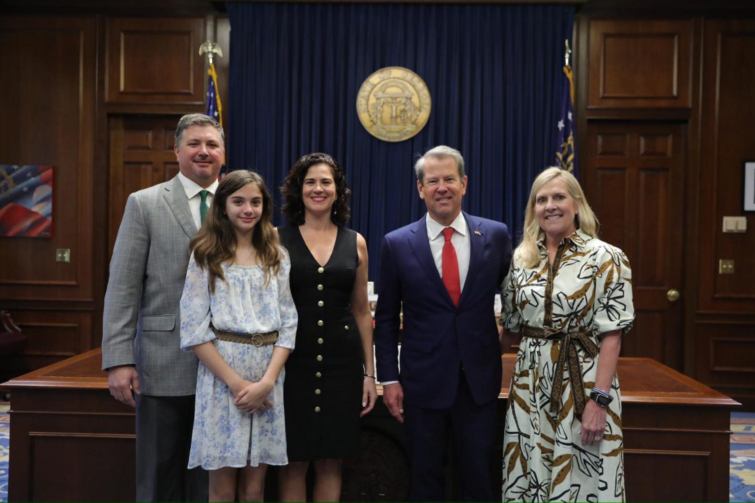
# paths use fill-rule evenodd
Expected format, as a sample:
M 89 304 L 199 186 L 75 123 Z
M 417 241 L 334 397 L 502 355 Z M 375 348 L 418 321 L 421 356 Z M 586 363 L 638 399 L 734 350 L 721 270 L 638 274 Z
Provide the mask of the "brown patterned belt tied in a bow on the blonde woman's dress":
M 582 370 L 579 366 L 577 346 L 580 345 L 585 353 L 594 358 L 599 351 L 598 345 L 590 338 L 587 330 L 584 329 L 564 333 L 549 327 L 525 326 L 522 330 L 522 335 L 532 337 L 532 339 L 561 341 L 559 357 L 556 360 L 556 367 L 553 369 L 553 387 L 550 389 L 550 412 L 557 413 L 559 406 L 561 406 L 564 367 L 566 361 L 569 360 L 569 384 L 572 385 L 572 400 L 574 400 L 576 416 L 581 420 L 584 406 L 587 405 L 587 397 L 584 394 L 584 382 L 582 382 Z

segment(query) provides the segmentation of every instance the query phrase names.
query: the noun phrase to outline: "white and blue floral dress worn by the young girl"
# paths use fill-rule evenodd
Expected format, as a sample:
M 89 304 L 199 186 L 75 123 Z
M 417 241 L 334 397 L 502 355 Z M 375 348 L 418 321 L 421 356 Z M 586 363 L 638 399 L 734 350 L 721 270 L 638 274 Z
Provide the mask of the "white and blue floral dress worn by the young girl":
M 215 281 L 213 294 L 208 286 L 208 271 L 199 268 L 192 255 L 180 302 L 181 348 L 190 350 L 193 345 L 212 341 L 223 360 L 251 382 L 264 376 L 273 345 L 255 347 L 217 340 L 210 330 L 211 322 L 217 330 L 227 332 L 277 330 L 276 345 L 293 349 L 297 312 L 288 287 L 291 262 L 285 249 L 281 251 L 284 258 L 279 274 L 272 275 L 267 285 L 260 266 L 223 263 L 226 281 Z M 284 378 L 285 370 L 281 370 L 269 396 L 273 406 L 263 413 L 249 414 L 233 404 L 230 388 L 199 362 L 189 468 L 202 466 L 215 470 L 287 464 Z

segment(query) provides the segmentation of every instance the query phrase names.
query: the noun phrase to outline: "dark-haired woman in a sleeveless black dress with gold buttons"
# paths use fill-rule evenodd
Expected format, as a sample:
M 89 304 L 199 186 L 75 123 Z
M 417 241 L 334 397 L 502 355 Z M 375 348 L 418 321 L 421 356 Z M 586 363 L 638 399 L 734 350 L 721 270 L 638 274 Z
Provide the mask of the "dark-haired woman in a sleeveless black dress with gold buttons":
M 299 314 L 296 348 L 285 366 L 288 462 L 282 501 L 341 497 L 341 465 L 359 452 L 359 417 L 377 399 L 372 315 L 367 300 L 367 243 L 344 227 L 350 190 L 330 155 L 300 158 L 281 188 L 288 225 L 279 228 L 291 256 L 291 294 Z

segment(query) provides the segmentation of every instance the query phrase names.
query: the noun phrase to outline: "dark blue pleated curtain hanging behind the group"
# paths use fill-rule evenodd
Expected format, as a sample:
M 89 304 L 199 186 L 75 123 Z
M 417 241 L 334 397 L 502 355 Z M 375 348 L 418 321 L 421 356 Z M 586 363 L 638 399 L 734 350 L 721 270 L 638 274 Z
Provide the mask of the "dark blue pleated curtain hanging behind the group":
M 328 152 L 353 192 L 377 281 L 383 236 L 425 212 L 412 167 L 445 144 L 464 155 L 464 210 L 520 235 L 529 187 L 556 152 L 571 5 L 229 3 L 230 169 L 276 192 L 307 152 Z M 371 136 L 356 94 L 377 69 L 404 66 L 432 97 L 410 140 Z M 277 222 L 282 217 L 278 214 Z M 518 241 L 518 240 L 517 240 Z

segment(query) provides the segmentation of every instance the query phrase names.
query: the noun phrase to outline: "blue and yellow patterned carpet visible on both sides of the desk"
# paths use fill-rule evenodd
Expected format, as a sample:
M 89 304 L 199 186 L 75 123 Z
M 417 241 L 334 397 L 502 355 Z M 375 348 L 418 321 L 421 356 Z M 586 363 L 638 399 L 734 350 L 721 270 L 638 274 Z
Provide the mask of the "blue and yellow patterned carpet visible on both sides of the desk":
M 0 503 L 8 501 L 9 404 L 0 402 Z M 729 501 L 755 501 L 755 413 L 732 413 Z

